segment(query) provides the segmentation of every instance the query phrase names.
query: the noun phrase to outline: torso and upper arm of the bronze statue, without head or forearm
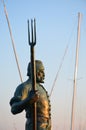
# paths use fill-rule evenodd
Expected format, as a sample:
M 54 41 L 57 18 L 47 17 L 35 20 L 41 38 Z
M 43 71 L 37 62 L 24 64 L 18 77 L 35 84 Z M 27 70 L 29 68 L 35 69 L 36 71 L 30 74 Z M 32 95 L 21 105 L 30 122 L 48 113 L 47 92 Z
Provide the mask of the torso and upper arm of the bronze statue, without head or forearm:
M 38 130 L 47 128 L 50 124 L 51 113 L 50 113 L 50 101 L 47 91 L 40 84 L 36 84 L 36 89 L 39 93 L 39 99 L 37 101 L 37 126 Z M 21 100 L 24 100 L 29 96 L 30 91 L 32 90 L 31 82 L 28 80 L 16 89 L 15 96 L 19 96 Z M 33 123 L 33 105 L 29 105 L 25 108 L 26 111 L 26 130 L 32 126 Z M 30 128 L 31 130 L 31 128 Z M 50 129 L 45 129 L 50 130 Z

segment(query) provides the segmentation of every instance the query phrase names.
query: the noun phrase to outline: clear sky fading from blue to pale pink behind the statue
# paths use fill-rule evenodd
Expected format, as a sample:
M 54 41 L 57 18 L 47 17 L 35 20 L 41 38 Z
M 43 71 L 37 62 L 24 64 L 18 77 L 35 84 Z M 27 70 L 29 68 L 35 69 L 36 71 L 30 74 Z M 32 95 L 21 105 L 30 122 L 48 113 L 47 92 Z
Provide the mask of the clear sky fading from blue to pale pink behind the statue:
M 77 43 L 82 14 L 75 104 L 75 130 L 86 129 L 86 0 L 5 0 L 23 81 L 30 61 L 27 21 L 36 19 L 35 59 L 45 66 L 44 86 L 50 94 L 52 130 L 69 130 Z M 65 49 L 67 52 L 65 54 Z M 65 54 L 65 56 L 64 56 Z M 64 57 L 64 60 L 62 61 Z M 21 83 L 4 7 L 0 0 L 0 130 L 24 130 L 25 112 L 12 115 L 9 101 Z

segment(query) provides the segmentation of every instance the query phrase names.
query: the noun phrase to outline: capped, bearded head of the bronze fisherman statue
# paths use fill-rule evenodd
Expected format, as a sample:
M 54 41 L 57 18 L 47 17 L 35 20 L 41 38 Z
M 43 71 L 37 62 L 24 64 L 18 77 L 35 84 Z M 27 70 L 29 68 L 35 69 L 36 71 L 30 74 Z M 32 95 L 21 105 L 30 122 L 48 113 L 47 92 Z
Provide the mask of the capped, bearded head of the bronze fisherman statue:
M 43 63 L 40 60 L 36 60 L 35 64 L 36 64 L 36 81 L 38 83 L 44 83 L 45 73 Z M 27 76 L 31 78 L 31 62 L 28 64 Z

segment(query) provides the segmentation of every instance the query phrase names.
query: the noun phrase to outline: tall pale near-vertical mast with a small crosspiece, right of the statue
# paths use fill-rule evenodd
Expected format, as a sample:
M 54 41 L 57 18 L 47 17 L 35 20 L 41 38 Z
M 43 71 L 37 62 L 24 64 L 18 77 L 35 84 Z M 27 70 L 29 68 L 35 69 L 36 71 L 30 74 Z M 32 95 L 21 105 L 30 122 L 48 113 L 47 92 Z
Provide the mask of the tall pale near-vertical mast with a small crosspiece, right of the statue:
M 73 86 L 71 128 L 70 128 L 70 130 L 74 130 L 74 120 L 75 120 L 76 84 L 77 84 L 76 81 L 77 81 L 78 54 L 79 54 L 79 45 L 80 45 L 80 24 L 81 24 L 81 13 L 78 13 L 78 31 L 77 31 L 77 43 L 76 43 L 76 60 L 75 60 L 75 71 L 74 71 L 74 86 Z

